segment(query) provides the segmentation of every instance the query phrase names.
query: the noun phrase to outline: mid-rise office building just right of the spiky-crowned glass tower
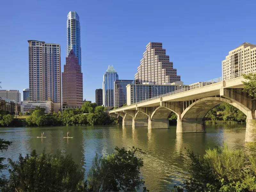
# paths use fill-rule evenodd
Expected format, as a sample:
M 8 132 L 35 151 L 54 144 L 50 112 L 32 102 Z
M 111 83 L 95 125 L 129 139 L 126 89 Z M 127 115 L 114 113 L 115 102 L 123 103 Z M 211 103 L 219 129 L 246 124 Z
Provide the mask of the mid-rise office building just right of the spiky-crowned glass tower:
M 114 82 L 115 107 L 122 107 L 127 104 L 126 86 L 132 84 L 133 80 L 116 80 Z

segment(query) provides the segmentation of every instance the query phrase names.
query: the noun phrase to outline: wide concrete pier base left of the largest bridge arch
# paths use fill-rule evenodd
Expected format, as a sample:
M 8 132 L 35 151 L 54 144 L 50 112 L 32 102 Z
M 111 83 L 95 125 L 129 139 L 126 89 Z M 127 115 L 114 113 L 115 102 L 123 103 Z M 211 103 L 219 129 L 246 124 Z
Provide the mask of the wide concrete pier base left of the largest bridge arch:
M 177 119 L 176 133 L 206 132 L 202 119 Z

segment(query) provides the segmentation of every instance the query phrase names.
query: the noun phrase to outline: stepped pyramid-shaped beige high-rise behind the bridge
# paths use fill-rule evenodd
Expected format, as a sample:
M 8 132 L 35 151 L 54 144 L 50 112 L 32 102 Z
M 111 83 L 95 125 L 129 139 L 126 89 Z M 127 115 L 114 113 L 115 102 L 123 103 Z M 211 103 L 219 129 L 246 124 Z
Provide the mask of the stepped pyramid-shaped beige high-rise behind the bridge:
M 142 83 L 165 84 L 180 81 L 177 69 L 173 68 L 173 63 L 169 61 L 169 55 L 166 55 L 165 49 L 162 48 L 162 43 L 150 42 L 147 44 L 137 70 L 135 79 Z

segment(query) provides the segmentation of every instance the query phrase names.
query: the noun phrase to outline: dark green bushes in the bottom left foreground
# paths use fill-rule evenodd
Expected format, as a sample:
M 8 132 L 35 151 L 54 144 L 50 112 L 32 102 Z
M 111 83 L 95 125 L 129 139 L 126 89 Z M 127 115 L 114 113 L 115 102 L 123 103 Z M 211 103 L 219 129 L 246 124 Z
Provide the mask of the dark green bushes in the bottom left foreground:
M 56 155 L 40 156 L 34 150 L 30 155 L 18 161 L 8 159 L 10 179 L 2 187 L 2 191 L 76 191 L 77 185 L 84 179 L 84 172 L 74 163 L 70 155 L 60 152 Z

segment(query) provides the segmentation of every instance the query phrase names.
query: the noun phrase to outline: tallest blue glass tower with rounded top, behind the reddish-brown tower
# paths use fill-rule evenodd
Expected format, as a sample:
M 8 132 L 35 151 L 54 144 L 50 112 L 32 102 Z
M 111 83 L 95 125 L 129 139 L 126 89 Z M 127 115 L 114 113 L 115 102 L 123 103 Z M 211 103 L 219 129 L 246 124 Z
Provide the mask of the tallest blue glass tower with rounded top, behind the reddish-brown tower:
M 75 11 L 68 13 L 67 20 L 67 57 L 69 52 L 73 49 L 78 58 L 78 65 L 82 66 L 81 61 L 81 39 L 80 39 L 80 21 L 79 16 Z

